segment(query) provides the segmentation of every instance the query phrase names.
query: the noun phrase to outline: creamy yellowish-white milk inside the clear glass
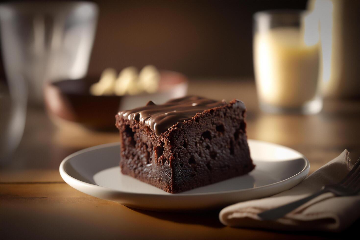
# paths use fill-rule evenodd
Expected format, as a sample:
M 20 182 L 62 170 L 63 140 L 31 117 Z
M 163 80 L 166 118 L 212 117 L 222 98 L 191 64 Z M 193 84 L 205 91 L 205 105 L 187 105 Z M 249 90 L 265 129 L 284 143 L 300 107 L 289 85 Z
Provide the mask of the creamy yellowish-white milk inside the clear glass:
M 301 108 L 316 98 L 319 79 L 316 39 L 306 41 L 300 28 L 272 28 L 255 33 L 253 52 L 258 97 L 262 104 Z

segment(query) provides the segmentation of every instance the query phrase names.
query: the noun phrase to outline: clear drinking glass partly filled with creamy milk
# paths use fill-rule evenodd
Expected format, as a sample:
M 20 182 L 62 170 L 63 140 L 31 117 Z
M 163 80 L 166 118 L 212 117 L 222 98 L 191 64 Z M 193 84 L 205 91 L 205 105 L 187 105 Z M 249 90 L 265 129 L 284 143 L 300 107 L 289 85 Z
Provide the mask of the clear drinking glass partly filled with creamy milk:
M 254 15 L 253 59 L 260 108 L 271 113 L 315 114 L 319 95 L 319 28 L 300 10 Z

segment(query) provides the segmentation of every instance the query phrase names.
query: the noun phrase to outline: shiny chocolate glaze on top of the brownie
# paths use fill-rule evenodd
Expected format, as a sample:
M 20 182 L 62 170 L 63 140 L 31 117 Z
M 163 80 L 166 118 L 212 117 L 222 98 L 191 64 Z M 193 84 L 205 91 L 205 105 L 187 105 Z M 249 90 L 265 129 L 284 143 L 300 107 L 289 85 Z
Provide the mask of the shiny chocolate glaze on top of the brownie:
M 177 127 L 181 127 L 184 121 L 190 120 L 197 113 L 222 105 L 226 105 L 224 100 L 215 101 L 198 96 L 186 96 L 162 105 L 149 101 L 144 107 L 121 111 L 118 114 L 129 120 L 134 119 L 147 124 L 156 136 L 160 136 L 176 123 Z M 233 106 L 245 109 L 244 103 L 239 100 Z

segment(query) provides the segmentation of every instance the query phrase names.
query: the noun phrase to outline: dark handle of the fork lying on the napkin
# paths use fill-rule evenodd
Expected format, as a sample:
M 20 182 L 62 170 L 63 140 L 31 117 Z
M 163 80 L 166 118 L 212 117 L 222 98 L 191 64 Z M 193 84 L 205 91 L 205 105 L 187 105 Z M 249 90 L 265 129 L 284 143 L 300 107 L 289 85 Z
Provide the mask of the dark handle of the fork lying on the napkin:
M 300 207 L 304 203 L 307 203 L 311 199 L 316 198 L 317 196 L 319 196 L 323 193 L 326 193 L 327 191 L 328 191 L 327 189 L 323 188 L 320 191 L 318 191 L 317 193 L 314 193 L 306 198 L 302 198 L 300 200 L 293 201 L 292 203 L 288 203 L 288 204 L 285 204 L 285 205 L 277 207 L 277 208 L 266 210 L 262 213 L 257 214 L 257 216 L 259 216 L 262 220 L 274 221 L 276 219 L 279 219 L 279 218 L 285 216 L 287 213 Z

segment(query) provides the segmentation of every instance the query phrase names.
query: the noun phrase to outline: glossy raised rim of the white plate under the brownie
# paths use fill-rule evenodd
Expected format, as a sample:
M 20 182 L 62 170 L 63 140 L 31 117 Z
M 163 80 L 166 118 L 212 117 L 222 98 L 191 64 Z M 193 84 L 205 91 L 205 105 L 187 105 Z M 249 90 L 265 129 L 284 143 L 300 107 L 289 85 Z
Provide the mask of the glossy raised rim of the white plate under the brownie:
M 106 143 L 106 144 L 100 144 L 100 145 L 92 146 L 92 147 L 89 147 L 89 148 L 81 149 L 79 151 L 76 151 L 75 153 L 72 153 L 72 154 L 68 155 L 60 163 L 59 172 L 60 172 L 60 176 L 63 178 L 63 180 L 67 184 L 69 184 L 70 186 L 72 186 L 72 184 L 70 184 L 70 181 L 72 181 L 72 182 L 75 182 L 76 185 L 83 185 L 85 187 L 90 187 L 91 189 L 106 190 L 106 191 L 110 191 L 112 193 L 117 193 L 117 194 L 120 193 L 120 194 L 128 194 L 128 195 L 161 196 L 161 197 L 164 197 L 164 198 L 173 198 L 174 196 L 182 198 L 182 197 L 189 197 L 189 196 L 221 195 L 221 194 L 241 193 L 241 192 L 248 191 L 248 190 L 259 190 L 259 189 L 262 189 L 262 188 L 278 186 L 278 185 L 283 184 L 284 182 L 287 182 L 287 181 L 291 180 L 292 178 L 297 179 L 298 177 L 303 177 L 302 175 L 305 175 L 305 177 L 303 177 L 303 180 L 304 180 L 306 178 L 306 176 L 309 174 L 309 172 L 310 172 L 310 162 L 305 157 L 305 155 L 303 155 L 299 151 L 296 151 L 296 150 L 294 150 L 292 148 L 289 148 L 287 146 L 283 146 L 283 145 L 280 145 L 280 144 L 275 144 L 275 143 L 272 143 L 272 142 L 262 141 L 262 140 L 248 139 L 248 141 L 258 142 L 258 143 L 262 143 L 262 144 L 270 144 L 270 145 L 273 145 L 273 146 L 276 146 L 276 147 L 286 148 L 288 150 L 295 151 L 296 153 L 301 155 L 302 159 L 305 161 L 305 166 L 303 167 L 303 169 L 301 169 L 300 172 L 296 173 L 295 175 L 293 175 L 293 176 L 291 176 L 289 178 L 286 178 L 286 179 L 278 181 L 278 182 L 274 182 L 272 184 L 267 184 L 267 185 L 264 185 L 264 186 L 251 187 L 251 188 L 239 189 L 239 190 L 227 190 L 227 191 L 217 191 L 217 192 L 209 192 L 209 193 L 190 193 L 190 194 L 154 194 L 154 193 L 134 193 L 134 192 L 128 192 L 128 191 L 121 191 L 121 190 L 112 189 L 112 188 L 109 188 L 109 187 L 104 187 L 104 186 L 100 186 L 100 185 L 96 185 L 96 184 L 90 184 L 90 183 L 87 183 L 87 182 L 83 182 L 81 180 L 78 180 L 75 177 L 70 176 L 66 172 L 65 166 L 66 166 L 67 162 L 69 162 L 69 160 L 71 158 L 73 158 L 73 157 L 75 157 L 77 155 L 80 155 L 82 153 L 86 153 L 88 151 L 93 151 L 93 150 L 96 150 L 96 149 L 102 149 L 102 148 L 107 148 L 107 147 L 112 147 L 112 146 L 117 146 L 117 145 L 120 146 L 120 142 L 110 142 L 110 143 Z M 79 191 L 81 191 L 81 190 L 79 190 Z

